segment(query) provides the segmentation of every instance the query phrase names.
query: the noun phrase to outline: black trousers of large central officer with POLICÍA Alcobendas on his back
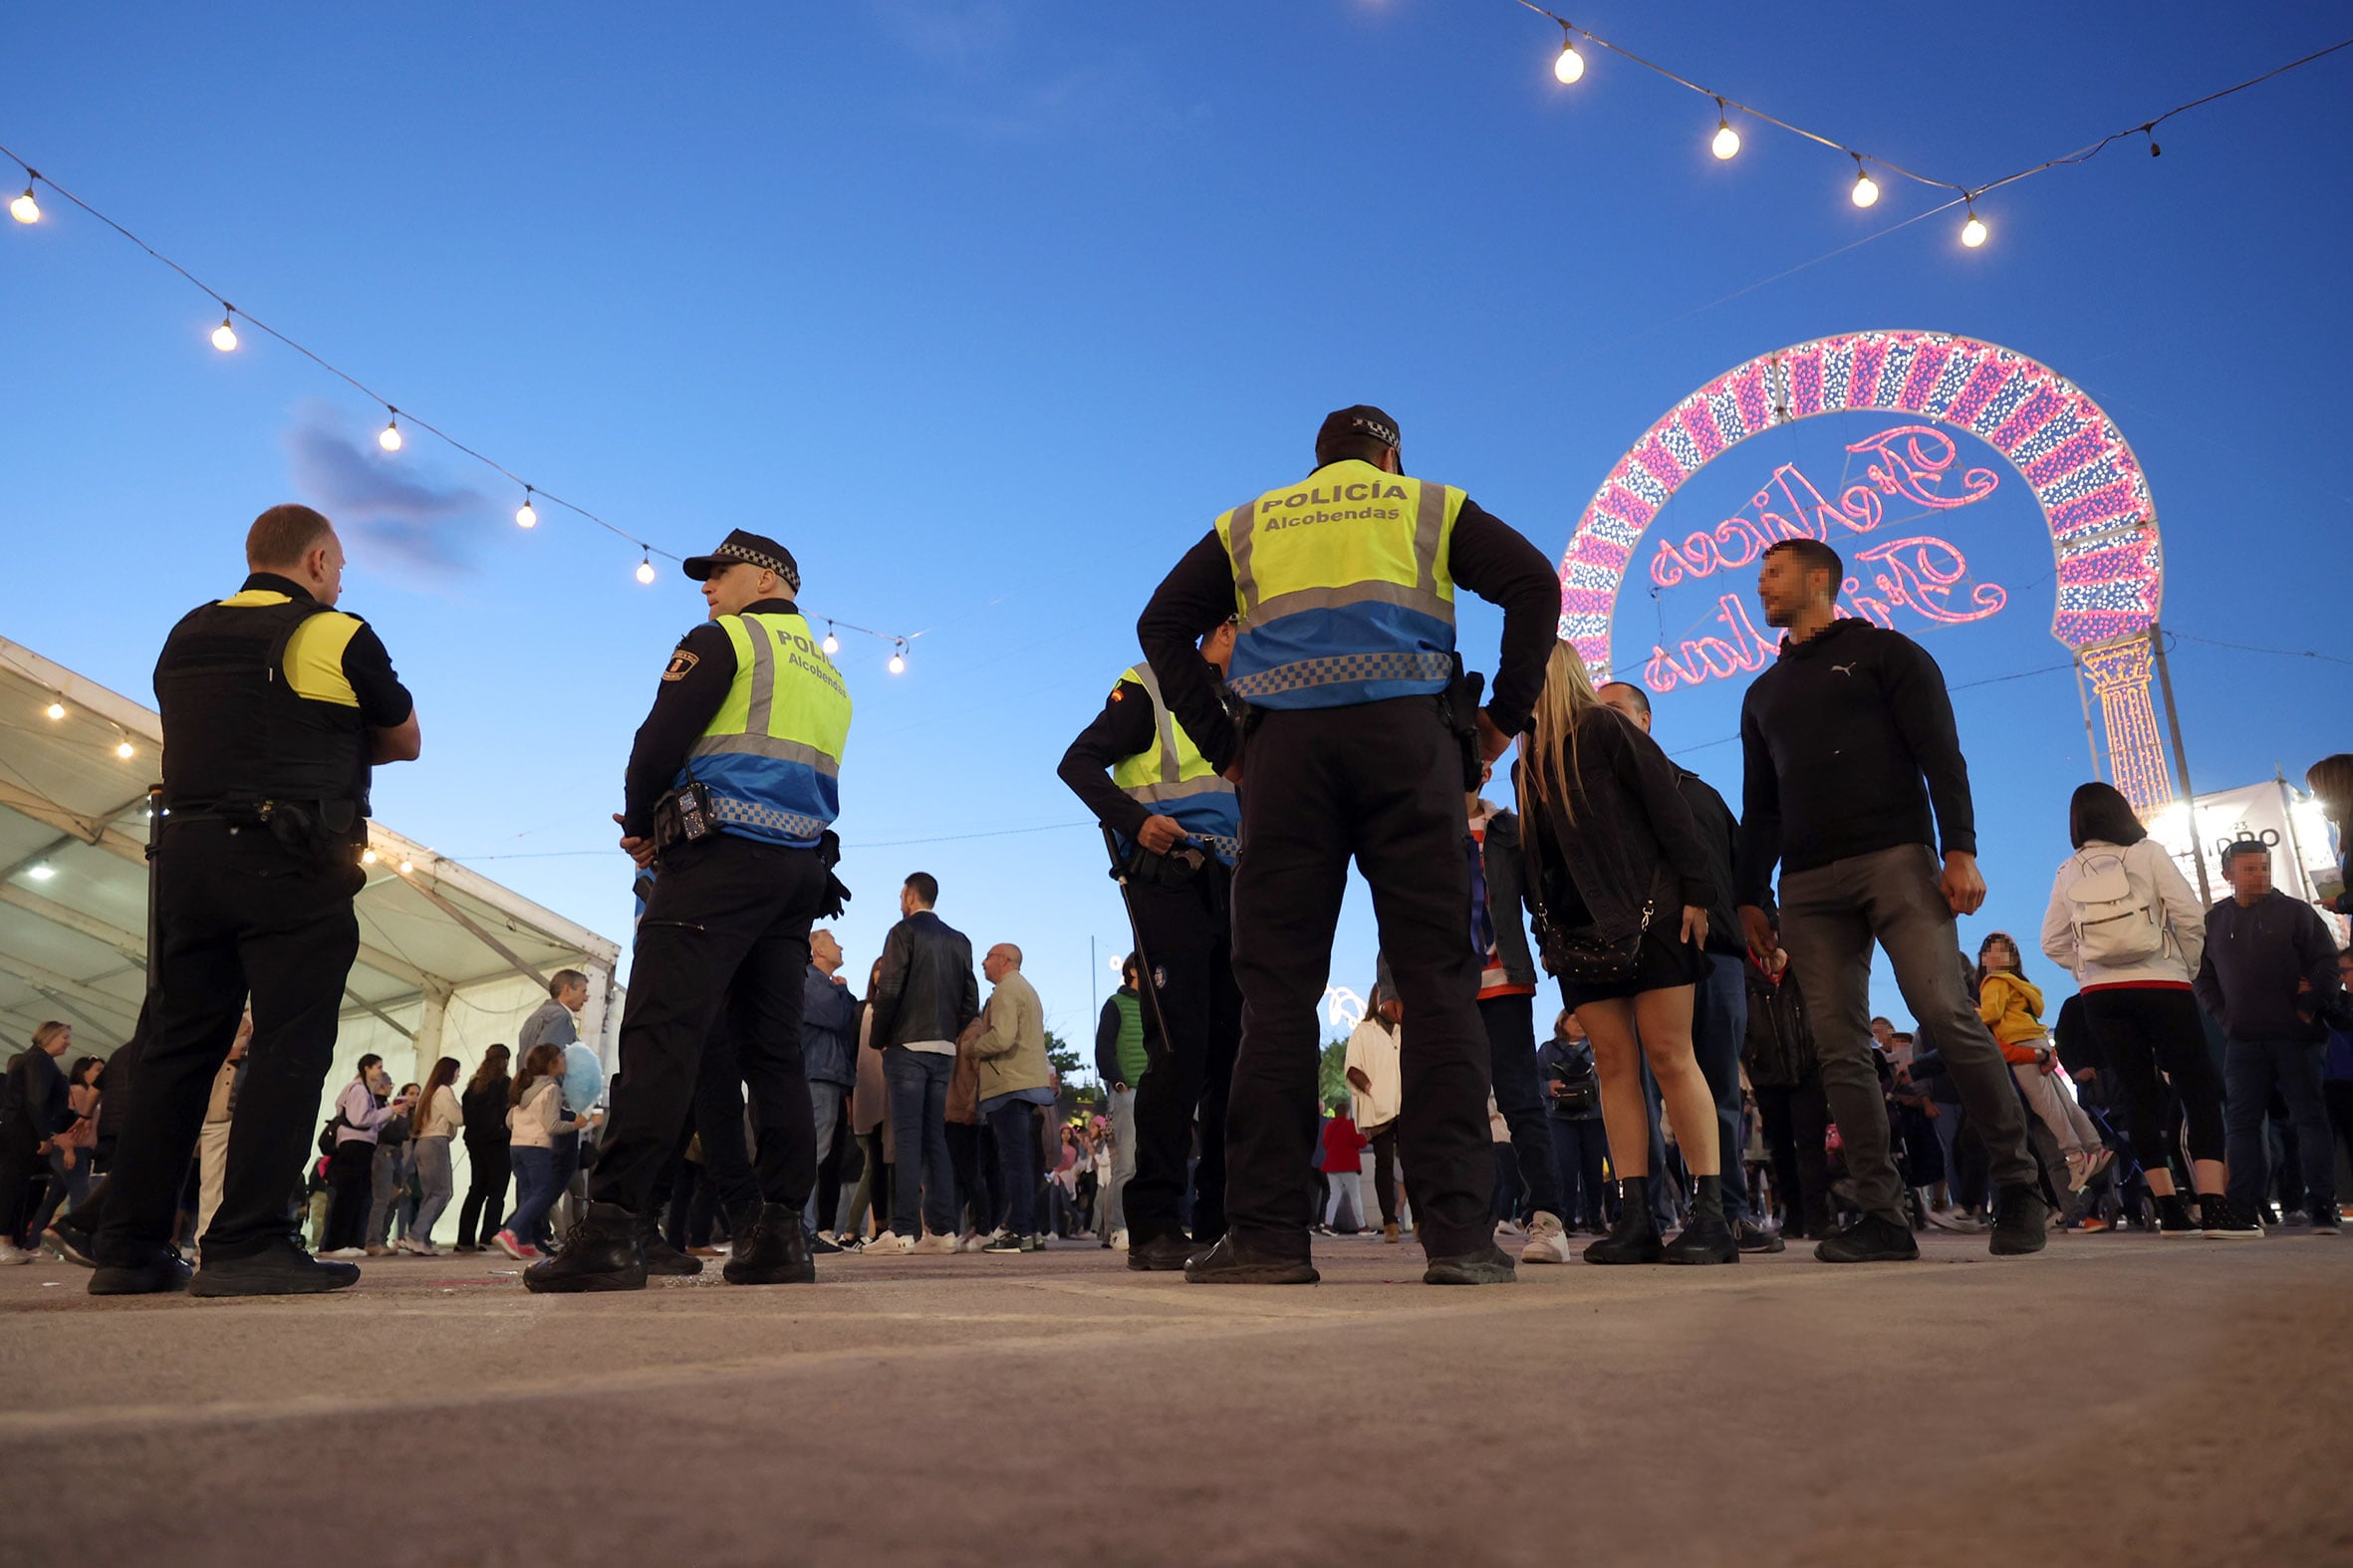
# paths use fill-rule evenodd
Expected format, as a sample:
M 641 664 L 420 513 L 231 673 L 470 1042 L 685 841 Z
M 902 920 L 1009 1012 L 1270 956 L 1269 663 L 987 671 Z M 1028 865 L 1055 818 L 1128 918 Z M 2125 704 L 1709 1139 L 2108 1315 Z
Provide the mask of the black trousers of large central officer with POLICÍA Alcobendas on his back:
M 1226 1222 L 1254 1250 L 1308 1255 L 1332 932 L 1348 859 L 1372 883 L 1405 1003 L 1398 1154 L 1431 1257 L 1494 1245 L 1487 1031 L 1471 951 L 1461 744 L 1435 697 L 1275 709 L 1242 749 L 1233 972 L 1242 1048 L 1226 1109 Z

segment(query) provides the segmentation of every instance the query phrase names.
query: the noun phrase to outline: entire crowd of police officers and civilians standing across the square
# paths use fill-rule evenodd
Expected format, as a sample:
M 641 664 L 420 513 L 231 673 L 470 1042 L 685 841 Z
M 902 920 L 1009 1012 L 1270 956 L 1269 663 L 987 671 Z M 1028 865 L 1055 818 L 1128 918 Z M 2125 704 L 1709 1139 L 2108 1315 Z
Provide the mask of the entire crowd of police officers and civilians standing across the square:
M 805 1283 L 849 1248 L 1005 1255 L 1047 1234 L 1285 1285 L 1318 1278 L 1318 1231 L 1379 1224 L 1412 1227 L 1426 1283 L 1487 1285 L 1798 1236 L 1821 1262 L 1899 1262 L 1929 1224 L 1993 1255 L 2059 1227 L 2337 1229 L 2348 961 L 2271 885 L 2271 845 L 2231 843 L 2231 897 L 2198 909 L 2125 796 L 2080 786 L 2038 942 L 2075 996 L 2045 1019 L 2017 939 L 1960 949 L 1986 883 L 1944 676 L 1842 610 L 1828 544 L 1760 553 L 1784 640 L 1744 697 L 1734 810 L 1668 758 L 1642 687 L 1595 683 L 1558 638 L 1541 553 L 1405 476 L 1388 414 L 1334 412 L 1315 457 L 1169 572 L 1136 624 L 1146 662 L 1056 770 L 1104 824 L 1136 937 L 1096 1031 L 1096 1116 L 1068 1116 L 1021 949 L 974 965 L 932 876 L 904 881 L 852 994 L 819 925 L 847 897 L 847 687 L 791 553 L 736 530 L 682 563 L 711 619 L 673 650 L 626 770 L 619 1076 L 579 1041 L 584 977 L 558 972 L 464 1090 L 452 1057 L 400 1088 L 362 1057 L 304 1191 L 280 1161 L 355 951 L 367 770 L 414 758 L 419 727 L 365 624 L 327 610 L 332 525 L 264 513 L 247 589 L 191 612 L 158 664 L 148 1012 L 111 1064 L 61 1071 L 66 1024 L 9 1062 L 5 1257 L 35 1236 L 31 1203 L 96 1295 L 341 1290 L 351 1260 L 438 1248 L 459 1137 L 456 1245 L 520 1260 L 534 1293 L 696 1274 L 718 1238 L 734 1285 Z M 1485 704 L 1457 586 L 1504 607 Z M 282 650 L 285 685 L 235 647 Z M 1513 742 L 1499 805 L 1482 791 Z M 2353 848 L 2353 756 L 2308 782 Z M 1381 963 L 1318 1114 L 1313 1010 L 1351 862 Z M 1908 1034 L 1868 1017 L 1873 949 Z M 1560 1012 L 1539 1043 L 1541 977 Z M 129 1059 L 136 1095 L 115 1081 Z M 80 1187 L 92 1170 L 106 1182 Z

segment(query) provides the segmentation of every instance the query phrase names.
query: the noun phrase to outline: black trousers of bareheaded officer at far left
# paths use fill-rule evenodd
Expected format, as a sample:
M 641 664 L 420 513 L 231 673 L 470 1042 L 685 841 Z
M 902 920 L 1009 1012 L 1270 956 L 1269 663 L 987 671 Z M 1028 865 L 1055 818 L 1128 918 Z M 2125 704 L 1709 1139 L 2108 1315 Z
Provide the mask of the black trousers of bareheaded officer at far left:
M 254 1038 L 228 1125 L 221 1208 L 200 1243 L 205 1257 L 231 1260 L 294 1238 L 294 1194 L 360 954 L 351 897 L 362 883 L 358 864 L 322 864 L 266 829 L 167 819 L 155 862 L 155 998 L 141 1029 L 139 1095 L 115 1142 L 101 1264 L 136 1267 L 172 1241 L 212 1078 L 247 996 Z

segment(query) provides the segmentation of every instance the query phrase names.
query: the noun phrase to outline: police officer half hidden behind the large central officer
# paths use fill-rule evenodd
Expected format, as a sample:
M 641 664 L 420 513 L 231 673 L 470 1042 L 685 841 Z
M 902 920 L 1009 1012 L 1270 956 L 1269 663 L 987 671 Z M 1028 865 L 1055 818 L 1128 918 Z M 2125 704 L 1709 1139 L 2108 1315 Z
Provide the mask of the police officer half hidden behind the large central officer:
M 1233 659 L 1231 619 L 1202 638 L 1198 659 L 1207 680 L 1224 680 Z M 1181 1269 L 1195 1243 L 1226 1234 L 1226 1085 L 1242 1038 L 1231 935 L 1242 812 L 1233 782 L 1219 777 L 1160 699 L 1151 664 L 1120 676 L 1056 772 L 1118 836 L 1136 949 L 1148 965 L 1139 989 L 1148 986 L 1144 1026 L 1158 1050 L 1136 1083 L 1127 1267 Z M 1195 1114 L 1200 1168 L 1193 1241 L 1186 1241 L 1179 1208 Z

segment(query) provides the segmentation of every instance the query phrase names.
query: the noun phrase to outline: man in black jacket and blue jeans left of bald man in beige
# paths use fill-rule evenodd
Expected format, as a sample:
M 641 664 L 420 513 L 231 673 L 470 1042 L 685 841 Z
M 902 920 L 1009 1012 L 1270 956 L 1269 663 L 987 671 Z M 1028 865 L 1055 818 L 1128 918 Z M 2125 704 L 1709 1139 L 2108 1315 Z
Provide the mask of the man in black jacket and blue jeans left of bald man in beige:
M 948 1078 L 955 1038 L 981 1015 L 981 982 L 972 975 L 972 942 L 936 913 L 939 881 L 915 871 L 899 890 L 906 916 L 882 939 L 868 1045 L 882 1052 L 889 1085 L 892 1227 L 868 1253 L 953 1253 L 955 1175 L 948 1158 Z M 920 1201 L 920 1208 L 918 1208 Z M 929 1224 L 929 1236 L 925 1236 Z

